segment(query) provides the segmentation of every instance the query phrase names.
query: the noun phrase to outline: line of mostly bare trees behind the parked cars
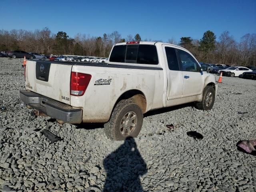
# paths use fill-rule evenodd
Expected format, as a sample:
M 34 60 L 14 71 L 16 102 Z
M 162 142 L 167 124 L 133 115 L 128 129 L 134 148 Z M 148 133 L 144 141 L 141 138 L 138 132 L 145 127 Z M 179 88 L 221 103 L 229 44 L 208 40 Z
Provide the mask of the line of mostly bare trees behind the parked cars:
M 128 41 L 141 41 L 139 34 L 123 38 L 118 31 L 102 36 L 76 34 L 70 38 L 66 32 L 53 34 L 49 28 L 34 31 L 0 30 L 0 51 L 24 50 L 40 54 L 69 54 L 84 56 L 108 57 L 114 44 Z M 144 39 L 143 41 L 158 41 Z M 181 37 L 180 42 L 174 38 L 168 43 L 188 49 L 200 62 L 220 63 L 242 66 L 256 66 L 256 34 L 245 34 L 236 41 L 228 31 L 216 38 L 212 31 L 204 32 L 200 40 L 191 37 Z

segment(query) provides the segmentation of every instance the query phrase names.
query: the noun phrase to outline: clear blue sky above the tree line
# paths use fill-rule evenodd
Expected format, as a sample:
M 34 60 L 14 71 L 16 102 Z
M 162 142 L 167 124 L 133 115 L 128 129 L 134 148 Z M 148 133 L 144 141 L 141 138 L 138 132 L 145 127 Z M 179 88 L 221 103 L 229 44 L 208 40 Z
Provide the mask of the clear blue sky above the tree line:
M 142 40 L 178 42 L 199 40 L 207 30 L 218 39 L 228 30 L 239 41 L 256 33 L 256 0 L 1 0 L 0 18 L 0 29 L 48 27 L 71 38 L 118 31 L 122 38 L 138 33 Z

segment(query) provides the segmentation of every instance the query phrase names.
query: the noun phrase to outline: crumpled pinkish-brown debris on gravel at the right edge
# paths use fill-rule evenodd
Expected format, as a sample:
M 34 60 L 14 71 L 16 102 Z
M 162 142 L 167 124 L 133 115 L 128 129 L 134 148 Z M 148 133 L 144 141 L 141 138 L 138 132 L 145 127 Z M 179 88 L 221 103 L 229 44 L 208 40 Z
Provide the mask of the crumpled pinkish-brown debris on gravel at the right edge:
M 256 156 L 256 139 L 238 141 L 236 146 L 239 151 Z

